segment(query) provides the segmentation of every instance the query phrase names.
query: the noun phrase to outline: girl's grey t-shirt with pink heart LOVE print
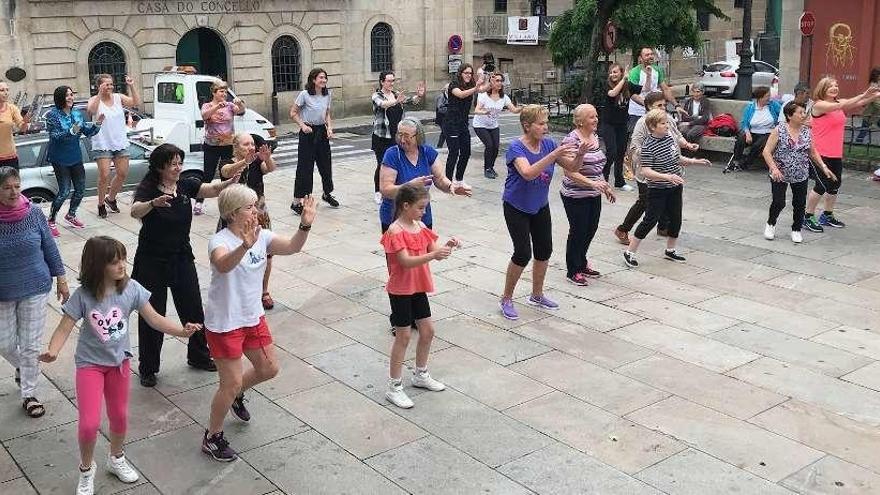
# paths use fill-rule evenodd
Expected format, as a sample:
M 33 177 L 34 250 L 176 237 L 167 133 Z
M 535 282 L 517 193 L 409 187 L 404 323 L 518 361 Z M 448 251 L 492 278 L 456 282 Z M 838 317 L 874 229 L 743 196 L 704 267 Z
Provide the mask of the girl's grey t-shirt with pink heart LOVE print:
M 100 302 L 80 287 L 62 307 L 80 325 L 74 360 L 76 367 L 119 366 L 130 358 L 128 317 L 150 300 L 150 291 L 129 280 L 121 294 L 113 291 Z

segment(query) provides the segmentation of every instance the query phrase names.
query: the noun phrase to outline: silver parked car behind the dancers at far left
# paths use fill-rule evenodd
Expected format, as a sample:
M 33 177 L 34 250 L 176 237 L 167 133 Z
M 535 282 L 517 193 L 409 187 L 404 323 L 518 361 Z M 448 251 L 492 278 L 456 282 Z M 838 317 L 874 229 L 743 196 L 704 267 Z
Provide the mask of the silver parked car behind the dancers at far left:
M 129 172 L 125 179 L 125 189 L 133 189 L 147 174 L 148 158 L 155 146 L 147 140 L 138 140 L 132 136 L 128 147 L 130 154 Z M 15 140 L 21 173 L 21 192 L 35 203 L 50 203 L 58 194 L 58 181 L 55 171 L 46 160 L 49 148 L 49 135 L 46 133 L 18 136 Z M 83 165 L 86 170 L 86 196 L 96 193 L 98 182 L 98 165 L 91 158 L 91 139 L 80 139 Z M 202 178 L 202 157 L 188 153 L 183 161 L 182 177 Z

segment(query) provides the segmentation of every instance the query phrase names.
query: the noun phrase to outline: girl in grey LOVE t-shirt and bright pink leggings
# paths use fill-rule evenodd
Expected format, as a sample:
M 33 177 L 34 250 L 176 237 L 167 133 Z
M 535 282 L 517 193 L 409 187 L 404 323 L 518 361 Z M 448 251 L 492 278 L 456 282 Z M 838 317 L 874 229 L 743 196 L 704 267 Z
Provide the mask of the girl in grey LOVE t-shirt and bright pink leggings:
M 95 441 L 101 426 L 101 402 L 110 420 L 107 470 L 120 481 L 134 483 L 138 473 L 125 459 L 122 444 L 128 425 L 128 386 L 131 369 L 129 315 L 137 310 L 150 325 L 170 335 L 189 337 L 201 327 L 181 326 L 156 313 L 150 293 L 125 273 L 125 246 L 98 236 L 86 241 L 80 264 L 82 284 L 62 307 L 64 317 L 52 334 L 40 361 L 51 363 L 80 319 L 86 320 L 76 345 L 76 405 L 79 409 L 79 485 L 77 495 L 94 493 Z

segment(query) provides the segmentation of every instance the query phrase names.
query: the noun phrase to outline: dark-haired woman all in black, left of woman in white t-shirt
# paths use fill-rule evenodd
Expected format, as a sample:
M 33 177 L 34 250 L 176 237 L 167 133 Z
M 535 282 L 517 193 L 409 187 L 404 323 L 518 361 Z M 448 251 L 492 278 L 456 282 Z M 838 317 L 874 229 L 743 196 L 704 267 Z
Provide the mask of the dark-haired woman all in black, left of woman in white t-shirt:
M 451 181 L 464 182 L 464 170 L 471 158 L 471 133 L 468 130 L 468 114 L 474 102 L 474 93 L 489 89 L 481 74 L 474 82 L 474 68 L 461 64 L 455 80 L 449 83 L 449 101 L 443 118 L 443 133 L 449 146 L 446 158 L 446 177 Z M 465 185 L 465 187 L 467 187 Z

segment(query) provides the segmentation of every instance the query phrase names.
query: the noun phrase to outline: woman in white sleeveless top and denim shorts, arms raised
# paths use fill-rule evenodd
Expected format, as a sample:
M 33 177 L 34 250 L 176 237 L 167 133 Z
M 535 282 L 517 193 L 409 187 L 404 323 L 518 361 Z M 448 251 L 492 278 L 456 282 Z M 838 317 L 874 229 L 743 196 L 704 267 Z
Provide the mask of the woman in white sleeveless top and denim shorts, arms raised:
M 125 95 L 113 92 L 113 77 L 110 74 L 95 76 L 95 86 L 98 87 L 98 94 L 89 98 L 86 110 L 93 118 L 104 115 L 101 131 L 92 138 L 92 156 L 98 164 L 98 216 L 107 218 L 107 208 L 119 213 L 116 194 L 122 190 L 128 175 L 125 109 L 137 106 L 140 97 L 134 80 L 129 76 L 125 76 L 128 92 Z M 116 167 L 113 182 L 110 182 L 110 162 Z

